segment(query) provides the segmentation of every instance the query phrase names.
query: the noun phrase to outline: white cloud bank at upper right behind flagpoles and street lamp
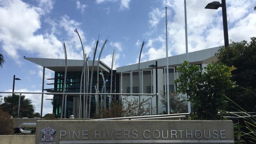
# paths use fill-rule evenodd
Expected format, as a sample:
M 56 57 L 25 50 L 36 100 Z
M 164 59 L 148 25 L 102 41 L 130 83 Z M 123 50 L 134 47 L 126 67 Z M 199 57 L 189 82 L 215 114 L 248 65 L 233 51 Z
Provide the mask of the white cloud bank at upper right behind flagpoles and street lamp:
M 189 52 L 224 45 L 223 21 L 221 8 L 217 10 L 204 9 L 210 0 L 187 1 L 187 30 Z M 253 0 L 256 2 L 256 0 Z M 243 6 L 241 6 L 243 4 Z M 249 40 L 256 33 L 256 13 L 253 11 L 250 0 L 227 1 L 228 32 L 229 39 L 233 41 Z M 184 1 L 164 0 L 163 6 L 167 6 L 168 18 L 168 49 L 171 54 L 183 54 L 185 48 L 185 24 L 184 24 Z M 169 12 L 171 11 L 171 15 Z M 152 9 L 149 16 L 149 24 L 153 29 L 145 35 L 150 37 L 145 48 L 147 52 L 142 54 L 142 61 L 161 58 L 165 54 L 165 26 L 158 26 L 160 20 L 165 17 L 162 10 L 157 7 Z M 161 31 L 155 36 L 154 31 Z M 159 43 L 158 43 L 159 42 Z M 158 55 L 152 55 L 152 54 Z M 168 52 L 169 53 L 169 52 Z M 170 53 L 169 53 L 170 55 Z M 138 61 L 138 59 L 137 59 Z

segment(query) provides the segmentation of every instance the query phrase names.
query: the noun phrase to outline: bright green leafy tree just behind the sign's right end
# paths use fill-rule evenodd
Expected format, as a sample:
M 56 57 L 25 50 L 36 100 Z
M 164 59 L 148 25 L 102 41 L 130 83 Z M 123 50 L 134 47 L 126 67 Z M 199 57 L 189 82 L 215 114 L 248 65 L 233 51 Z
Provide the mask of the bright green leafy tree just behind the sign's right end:
M 231 71 L 234 67 L 209 64 L 202 68 L 197 65 L 188 65 L 188 61 L 177 68 L 182 72 L 175 83 L 180 83 L 178 93 L 190 96 L 189 101 L 193 103 L 191 118 L 197 120 L 219 120 L 220 110 L 227 106 L 223 96 L 226 92 L 235 87 L 235 82 L 231 81 Z

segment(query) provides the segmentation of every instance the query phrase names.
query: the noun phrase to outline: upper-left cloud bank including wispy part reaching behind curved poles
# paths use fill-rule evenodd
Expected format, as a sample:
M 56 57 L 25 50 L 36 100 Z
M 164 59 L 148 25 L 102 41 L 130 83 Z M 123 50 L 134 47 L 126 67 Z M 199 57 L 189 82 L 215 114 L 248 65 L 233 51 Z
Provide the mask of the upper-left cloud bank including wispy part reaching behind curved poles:
M 41 4 L 49 4 L 52 1 L 39 1 Z M 47 3 L 48 2 L 48 3 Z M 50 3 L 52 4 L 52 3 Z M 40 7 L 34 7 L 20 0 L 4 1 L 0 4 L 0 42 L 2 50 L 12 57 L 16 63 L 21 64 L 19 51 L 38 54 L 44 58 L 64 58 L 62 40 L 59 41 L 55 33 L 64 28 L 67 39 L 68 59 L 83 59 L 82 47 L 77 33 L 78 28 L 84 44 L 85 52 L 89 54 L 93 47 L 92 42 L 85 44 L 86 39 L 83 31 L 79 28 L 80 23 L 64 15 L 60 20 L 47 19 L 45 22 L 52 26 L 51 32 L 36 34 L 41 28 Z M 11 18 L 10 18 L 11 17 Z M 56 22 L 57 21 L 57 22 Z M 19 26 L 17 26 L 19 24 Z

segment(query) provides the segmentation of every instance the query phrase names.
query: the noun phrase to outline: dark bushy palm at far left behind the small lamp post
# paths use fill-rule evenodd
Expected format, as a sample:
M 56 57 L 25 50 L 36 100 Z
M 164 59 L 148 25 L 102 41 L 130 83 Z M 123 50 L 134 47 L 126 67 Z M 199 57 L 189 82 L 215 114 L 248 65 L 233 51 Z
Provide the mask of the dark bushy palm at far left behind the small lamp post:
M 13 116 L 17 116 L 18 107 L 19 107 L 19 95 L 14 94 L 14 102 L 13 102 Z M 9 111 L 11 109 L 11 100 L 12 95 L 9 95 L 4 98 L 4 103 L 0 105 L 4 111 Z M 33 113 L 35 111 L 34 105 L 32 105 L 32 101 L 30 99 L 26 99 L 24 95 L 20 96 L 20 117 L 29 117 L 33 118 Z

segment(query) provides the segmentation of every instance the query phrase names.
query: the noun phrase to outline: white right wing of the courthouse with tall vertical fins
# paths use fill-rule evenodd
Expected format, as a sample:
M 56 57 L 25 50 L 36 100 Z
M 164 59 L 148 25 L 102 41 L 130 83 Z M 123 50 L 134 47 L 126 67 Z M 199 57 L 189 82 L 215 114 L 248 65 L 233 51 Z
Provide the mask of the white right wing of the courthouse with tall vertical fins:
M 218 52 L 219 47 L 208 48 L 205 50 L 199 50 L 196 52 L 189 53 L 189 64 L 190 65 L 200 65 L 202 68 L 210 64 L 213 61 L 216 61 L 217 58 L 215 54 Z M 174 55 L 168 58 L 169 59 L 169 91 L 175 92 L 177 85 L 174 84 L 180 73 L 176 72 L 176 68 L 180 66 L 186 60 L 186 54 Z M 150 65 L 155 65 L 156 61 L 158 62 L 158 114 L 166 111 L 165 105 L 161 103 L 163 99 L 163 94 L 166 93 L 166 58 L 156 59 L 152 61 L 145 61 L 140 63 L 141 69 L 141 92 L 144 94 L 156 94 L 156 68 L 150 68 Z M 117 68 L 117 73 L 120 76 L 120 93 L 139 93 L 139 75 L 138 75 L 138 63 L 121 66 Z M 131 100 L 138 100 L 139 96 L 120 96 L 119 100 L 126 103 Z M 140 96 L 140 101 L 144 102 L 143 107 L 147 108 L 148 106 L 151 109 L 151 99 L 150 96 Z M 145 102 L 148 100 L 148 102 Z M 125 104 L 124 104 L 125 106 Z M 149 114 L 156 114 L 156 98 L 152 98 L 152 112 Z

